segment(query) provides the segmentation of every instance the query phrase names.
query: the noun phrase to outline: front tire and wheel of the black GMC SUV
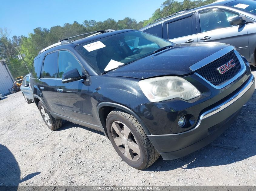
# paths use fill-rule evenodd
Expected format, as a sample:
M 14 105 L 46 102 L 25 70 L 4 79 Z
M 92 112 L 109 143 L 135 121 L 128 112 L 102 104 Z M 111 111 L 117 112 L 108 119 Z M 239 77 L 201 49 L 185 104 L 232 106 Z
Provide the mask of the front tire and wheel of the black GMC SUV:
M 142 170 L 159 158 L 143 127 L 131 114 L 119 109 L 111 111 L 106 127 L 115 151 L 131 167 Z

